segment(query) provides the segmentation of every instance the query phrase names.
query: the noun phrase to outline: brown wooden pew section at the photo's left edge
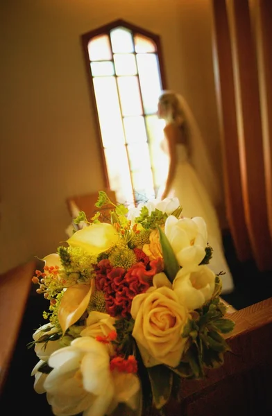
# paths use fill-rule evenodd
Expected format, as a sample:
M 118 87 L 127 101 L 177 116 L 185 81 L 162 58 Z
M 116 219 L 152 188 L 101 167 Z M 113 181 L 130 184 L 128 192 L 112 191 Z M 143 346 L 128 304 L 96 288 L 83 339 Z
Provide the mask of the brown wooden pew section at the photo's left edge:
M 37 262 L 33 260 L 0 275 L 0 394 L 16 346 L 36 268 Z

